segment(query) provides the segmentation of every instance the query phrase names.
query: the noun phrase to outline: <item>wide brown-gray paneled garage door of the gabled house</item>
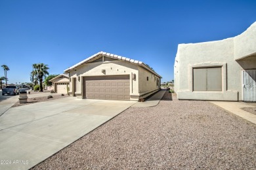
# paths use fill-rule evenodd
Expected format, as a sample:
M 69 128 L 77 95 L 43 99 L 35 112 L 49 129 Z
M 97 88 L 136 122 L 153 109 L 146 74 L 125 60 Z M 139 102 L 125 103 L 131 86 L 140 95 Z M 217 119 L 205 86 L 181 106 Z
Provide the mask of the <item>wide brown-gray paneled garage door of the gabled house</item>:
M 84 98 L 130 100 L 129 75 L 85 77 Z

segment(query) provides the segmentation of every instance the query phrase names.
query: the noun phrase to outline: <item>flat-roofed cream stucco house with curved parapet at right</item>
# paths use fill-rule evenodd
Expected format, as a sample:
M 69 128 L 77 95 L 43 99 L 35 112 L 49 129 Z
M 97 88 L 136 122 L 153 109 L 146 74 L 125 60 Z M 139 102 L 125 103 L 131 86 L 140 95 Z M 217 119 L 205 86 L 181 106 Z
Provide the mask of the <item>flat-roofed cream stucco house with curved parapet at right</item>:
M 180 44 L 174 73 L 179 99 L 256 101 L 256 22 L 236 37 Z

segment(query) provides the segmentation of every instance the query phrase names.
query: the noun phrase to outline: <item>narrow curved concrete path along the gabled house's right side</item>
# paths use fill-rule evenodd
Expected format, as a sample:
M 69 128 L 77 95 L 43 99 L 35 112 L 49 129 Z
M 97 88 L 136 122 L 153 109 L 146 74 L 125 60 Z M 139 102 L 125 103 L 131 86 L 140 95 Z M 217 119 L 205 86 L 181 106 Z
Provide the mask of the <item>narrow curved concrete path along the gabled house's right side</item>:
M 137 102 L 135 104 L 133 104 L 133 108 L 144 108 L 144 107 L 154 107 L 156 105 L 158 105 L 158 103 L 160 102 L 161 98 L 163 97 L 163 95 L 165 94 L 166 89 L 161 89 L 161 91 L 158 91 L 158 93 L 156 93 L 155 95 L 151 96 L 150 98 L 148 98 L 148 100 L 144 101 L 144 102 Z

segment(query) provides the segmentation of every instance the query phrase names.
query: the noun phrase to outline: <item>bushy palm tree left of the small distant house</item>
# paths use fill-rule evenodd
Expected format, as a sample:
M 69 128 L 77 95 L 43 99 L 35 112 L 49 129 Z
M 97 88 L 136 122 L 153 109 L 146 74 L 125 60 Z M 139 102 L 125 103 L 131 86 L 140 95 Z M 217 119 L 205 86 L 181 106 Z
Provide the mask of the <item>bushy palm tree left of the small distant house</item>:
M 47 64 L 43 63 L 32 65 L 33 71 L 31 72 L 31 77 L 34 81 L 39 80 L 40 91 L 43 91 L 43 77 L 45 77 L 45 75 L 49 75 L 49 72 L 47 71 L 49 67 L 47 66 Z

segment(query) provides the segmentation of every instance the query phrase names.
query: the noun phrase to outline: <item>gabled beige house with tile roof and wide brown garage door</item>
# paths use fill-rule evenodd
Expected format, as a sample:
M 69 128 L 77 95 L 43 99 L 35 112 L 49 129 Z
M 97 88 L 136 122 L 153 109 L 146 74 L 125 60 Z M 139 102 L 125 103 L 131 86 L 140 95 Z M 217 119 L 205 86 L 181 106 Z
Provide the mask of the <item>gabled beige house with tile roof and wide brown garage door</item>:
M 70 75 L 70 93 L 82 98 L 139 100 L 161 85 L 161 76 L 143 62 L 104 52 L 64 72 Z

